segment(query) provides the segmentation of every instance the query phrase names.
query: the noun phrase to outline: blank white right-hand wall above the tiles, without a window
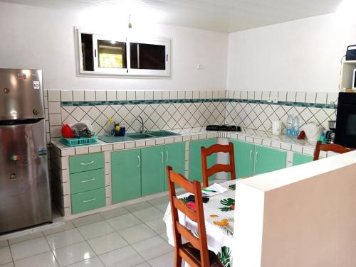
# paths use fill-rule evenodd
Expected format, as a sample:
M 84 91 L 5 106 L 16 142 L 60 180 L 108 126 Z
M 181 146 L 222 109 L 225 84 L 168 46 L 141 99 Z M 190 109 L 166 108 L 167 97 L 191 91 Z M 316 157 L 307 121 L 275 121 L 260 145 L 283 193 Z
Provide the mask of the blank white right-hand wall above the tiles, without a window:
M 337 92 L 340 58 L 355 43 L 355 24 L 334 14 L 231 33 L 226 87 Z

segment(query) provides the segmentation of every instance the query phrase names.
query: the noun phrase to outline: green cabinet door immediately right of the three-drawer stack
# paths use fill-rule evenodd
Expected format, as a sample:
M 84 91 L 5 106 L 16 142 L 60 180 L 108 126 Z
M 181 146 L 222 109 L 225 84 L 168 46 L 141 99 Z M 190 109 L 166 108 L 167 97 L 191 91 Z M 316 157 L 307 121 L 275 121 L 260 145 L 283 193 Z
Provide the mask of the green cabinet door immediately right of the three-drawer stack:
M 111 153 L 112 203 L 141 197 L 141 150 Z

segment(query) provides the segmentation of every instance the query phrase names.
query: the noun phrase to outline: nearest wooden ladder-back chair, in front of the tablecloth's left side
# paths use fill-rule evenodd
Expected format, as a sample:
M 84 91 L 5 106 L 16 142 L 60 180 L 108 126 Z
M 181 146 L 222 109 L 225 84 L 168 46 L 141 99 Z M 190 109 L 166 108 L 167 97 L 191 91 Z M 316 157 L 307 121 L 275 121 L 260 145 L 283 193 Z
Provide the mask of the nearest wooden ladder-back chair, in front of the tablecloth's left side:
M 174 230 L 174 267 L 181 267 L 182 259 L 192 267 L 224 267 L 218 256 L 208 250 L 200 182 L 197 180 L 189 182 L 183 175 L 174 173 L 171 166 L 167 166 L 167 179 Z M 194 195 L 194 210 L 177 198 L 174 184 Z M 178 210 L 197 223 L 197 237 L 187 227 L 179 223 Z M 187 239 L 187 243 L 182 244 L 182 236 Z

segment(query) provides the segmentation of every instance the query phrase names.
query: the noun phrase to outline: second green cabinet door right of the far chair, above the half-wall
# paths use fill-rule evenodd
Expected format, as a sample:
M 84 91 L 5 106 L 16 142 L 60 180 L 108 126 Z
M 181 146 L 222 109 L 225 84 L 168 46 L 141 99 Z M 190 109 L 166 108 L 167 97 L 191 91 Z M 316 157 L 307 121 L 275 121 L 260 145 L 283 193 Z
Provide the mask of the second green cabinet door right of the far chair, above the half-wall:
M 254 174 L 268 173 L 286 168 L 287 152 L 275 148 L 255 146 Z

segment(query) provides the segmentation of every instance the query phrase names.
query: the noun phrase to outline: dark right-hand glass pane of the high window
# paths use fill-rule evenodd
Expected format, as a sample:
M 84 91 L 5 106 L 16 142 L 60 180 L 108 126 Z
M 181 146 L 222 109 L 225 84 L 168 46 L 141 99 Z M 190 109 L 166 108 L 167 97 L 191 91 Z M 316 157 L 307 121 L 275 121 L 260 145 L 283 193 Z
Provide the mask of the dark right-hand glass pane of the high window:
M 130 43 L 132 69 L 165 70 L 166 48 L 164 45 Z

